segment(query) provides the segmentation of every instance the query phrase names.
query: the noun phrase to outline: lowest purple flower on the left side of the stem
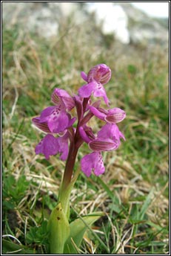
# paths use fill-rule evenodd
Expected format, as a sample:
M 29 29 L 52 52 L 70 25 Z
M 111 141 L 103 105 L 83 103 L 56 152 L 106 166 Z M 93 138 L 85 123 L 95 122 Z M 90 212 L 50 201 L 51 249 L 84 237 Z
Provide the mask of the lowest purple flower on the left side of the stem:
M 47 134 L 36 146 L 36 154 L 44 154 L 46 159 L 50 156 L 61 153 L 61 160 L 66 160 L 68 155 L 68 134 L 55 138 L 53 135 Z

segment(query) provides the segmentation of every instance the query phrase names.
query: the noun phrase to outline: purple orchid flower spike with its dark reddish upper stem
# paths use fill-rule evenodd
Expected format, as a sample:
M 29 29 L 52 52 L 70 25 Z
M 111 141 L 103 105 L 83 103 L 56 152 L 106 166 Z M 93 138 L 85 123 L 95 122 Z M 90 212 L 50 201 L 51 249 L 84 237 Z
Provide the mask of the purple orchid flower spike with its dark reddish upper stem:
M 78 95 L 71 97 L 64 89 L 54 89 L 51 95 L 54 105 L 48 106 L 38 117 L 33 118 L 33 124 L 46 133 L 36 145 L 36 154 L 42 153 L 46 159 L 59 154 L 62 161 L 67 160 L 64 171 L 64 179 L 67 181 L 70 181 L 73 175 L 76 155 L 81 144 L 86 142 L 92 151 L 81 159 L 81 170 L 86 176 L 90 176 L 92 172 L 98 176 L 105 170 L 103 151 L 116 150 L 121 144 L 121 138 L 125 140 L 117 126 L 126 117 L 124 110 L 117 107 L 103 109 L 100 107 L 101 100 L 93 102 L 90 97 L 103 97 L 109 106 L 104 85 L 110 80 L 110 68 L 105 64 L 95 65 L 87 74 L 81 72 L 81 77 L 87 83 L 78 89 Z M 71 112 L 74 107 L 75 116 L 74 112 Z M 93 129 L 87 126 L 93 116 L 105 123 L 96 135 L 93 134 Z M 73 125 L 76 120 L 77 124 Z

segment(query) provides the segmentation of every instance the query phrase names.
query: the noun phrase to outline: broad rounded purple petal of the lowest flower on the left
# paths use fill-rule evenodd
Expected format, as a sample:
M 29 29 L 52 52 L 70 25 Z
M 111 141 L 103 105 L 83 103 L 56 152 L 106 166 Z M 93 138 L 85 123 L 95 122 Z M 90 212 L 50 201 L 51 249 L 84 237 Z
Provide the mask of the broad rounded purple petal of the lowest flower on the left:
M 36 146 L 36 154 L 44 154 L 46 159 L 50 156 L 56 155 L 58 153 L 59 144 L 58 138 L 53 137 L 53 135 L 47 134 L 41 142 Z

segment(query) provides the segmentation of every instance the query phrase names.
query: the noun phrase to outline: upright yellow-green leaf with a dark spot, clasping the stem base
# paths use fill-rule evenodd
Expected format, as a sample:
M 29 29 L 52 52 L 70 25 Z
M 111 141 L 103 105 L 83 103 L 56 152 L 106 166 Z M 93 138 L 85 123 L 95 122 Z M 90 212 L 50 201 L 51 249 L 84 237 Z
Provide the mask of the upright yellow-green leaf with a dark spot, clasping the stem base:
M 70 225 L 61 208 L 61 202 L 56 205 L 50 215 L 48 230 L 50 232 L 50 253 L 62 254 L 64 243 L 70 235 Z

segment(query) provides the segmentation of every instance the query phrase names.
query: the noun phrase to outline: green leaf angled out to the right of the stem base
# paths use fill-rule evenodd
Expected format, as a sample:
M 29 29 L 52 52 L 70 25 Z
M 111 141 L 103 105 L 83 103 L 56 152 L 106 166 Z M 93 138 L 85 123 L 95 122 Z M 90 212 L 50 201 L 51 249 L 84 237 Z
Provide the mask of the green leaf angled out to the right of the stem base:
M 79 248 L 84 233 L 90 225 L 98 220 L 103 213 L 94 213 L 88 216 L 81 217 L 70 223 L 70 237 L 64 246 L 64 254 L 78 254 L 76 247 Z

